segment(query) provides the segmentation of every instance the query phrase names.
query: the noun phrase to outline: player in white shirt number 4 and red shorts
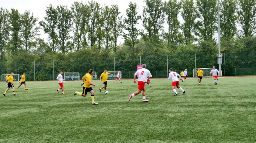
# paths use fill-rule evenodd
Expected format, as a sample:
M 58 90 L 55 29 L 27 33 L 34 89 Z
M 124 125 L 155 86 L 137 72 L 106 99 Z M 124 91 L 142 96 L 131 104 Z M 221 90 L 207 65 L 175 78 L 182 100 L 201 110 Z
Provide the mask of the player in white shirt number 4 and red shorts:
M 148 78 L 152 77 L 152 75 L 151 75 L 150 71 L 146 69 L 146 64 L 142 64 L 142 69 L 137 70 L 136 73 L 134 73 L 134 75 L 133 75 L 133 79 L 134 79 L 133 83 L 134 84 L 136 83 L 137 75 L 139 75 L 138 90 L 135 91 L 133 94 L 129 95 L 128 100 L 130 101 L 130 99 L 133 96 L 136 96 L 137 94 L 141 93 L 141 91 L 142 91 L 143 102 L 148 102 L 148 100 L 146 99 L 146 96 L 145 96 L 145 94 L 146 94 L 145 83 L 147 82 Z

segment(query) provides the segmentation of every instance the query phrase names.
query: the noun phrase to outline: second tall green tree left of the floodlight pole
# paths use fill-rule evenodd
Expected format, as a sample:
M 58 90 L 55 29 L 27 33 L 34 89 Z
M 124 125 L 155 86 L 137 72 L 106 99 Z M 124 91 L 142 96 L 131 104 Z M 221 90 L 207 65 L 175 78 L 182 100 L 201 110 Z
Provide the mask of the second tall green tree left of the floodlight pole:
M 181 17 L 184 20 L 184 23 L 181 25 L 182 35 L 184 37 L 185 44 L 191 44 L 194 41 L 194 30 L 195 30 L 195 19 L 196 8 L 194 6 L 193 0 L 181 0 Z

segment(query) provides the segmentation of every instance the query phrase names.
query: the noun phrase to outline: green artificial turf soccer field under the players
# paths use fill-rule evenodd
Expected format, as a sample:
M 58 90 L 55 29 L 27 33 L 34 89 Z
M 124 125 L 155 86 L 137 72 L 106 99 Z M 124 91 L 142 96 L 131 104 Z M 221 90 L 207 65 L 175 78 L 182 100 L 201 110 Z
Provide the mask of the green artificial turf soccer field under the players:
M 142 93 L 128 101 L 138 88 L 133 80 L 92 81 L 95 102 L 82 92 L 81 81 L 64 82 L 66 95 L 56 82 L 14 83 L 3 96 L 0 84 L 0 142 L 256 142 L 256 77 L 197 78 L 180 81 L 185 94 L 171 81 L 151 79 L 146 99 Z

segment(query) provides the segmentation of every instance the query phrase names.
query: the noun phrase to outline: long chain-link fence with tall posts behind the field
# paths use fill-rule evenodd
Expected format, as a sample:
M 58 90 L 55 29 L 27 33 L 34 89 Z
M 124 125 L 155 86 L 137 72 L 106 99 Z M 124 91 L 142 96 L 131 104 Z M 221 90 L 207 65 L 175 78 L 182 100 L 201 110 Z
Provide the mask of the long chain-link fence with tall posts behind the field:
M 225 54 L 224 54 L 225 55 Z M 209 61 L 209 59 L 212 59 Z M 209 62 L 206 62 L 209 61 Z M 81 76 L 89 70 L 96 72 L 96 79 L 106 69 L 108 71 L 122 71 L 123 79 L 132 79 L 136 72 L 137 65 L 146 64 L 147 69 L 151 71 L 153 78 L 168 78 L 169 68 L 180 73 L 187 68 L 188 77 L 193 76 L 193 68 L 211 68 L 215 66 L 218 69 L 217 57 L 211 58 L 205 55 L 162 55 L 162 56 L 133 56 L 133 57 L 97 57 L 97 58 L 77 58 L 77 59 L 45 59 L 41 60 L 20 60 L 1 63 L 1 74 L 21 74 L 26 72 L 26 81 L 45 81 L 56 80 L 59 71 L 79 72 Z M 225 56 L 221 64 L 222 76 L 248 76 L 256 75 L 256 66 L 253 63 L 247 63 L 250 68 L 236 68 L 244 66 L 232 59 L 226 60 Z M 235 66 L 234 66 L 235 65 Z

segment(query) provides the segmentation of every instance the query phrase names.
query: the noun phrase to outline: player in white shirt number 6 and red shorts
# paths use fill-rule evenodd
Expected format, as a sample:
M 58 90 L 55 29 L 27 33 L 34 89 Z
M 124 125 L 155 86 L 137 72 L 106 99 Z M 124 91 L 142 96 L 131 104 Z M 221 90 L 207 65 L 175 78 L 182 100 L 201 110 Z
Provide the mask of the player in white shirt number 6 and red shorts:
M 181 76 L 180 76 L 178 73 L 172 71 L 171 68 L 169 69 L 169 72 L 170 72 L 170 73 L 169 73 L 169 78 L 168 78 L 168 79 L 169 79 L 169 80 L 172 79 L 172 91 L 175 92 L 174 96 L 178 95 L 178 93 L 177 93 L 177 91 L 176 91 L 176 89 L 175 89 L 175 86 L 176 86 L 178 89 L 180 89 L 180 90 L 183 92 L 183 94 L 185 94 L 185 91 L 184 91 L 181 87 L 179 87 L 179 79 L 178 79 L 178 76 L 179 76 L 180 79 L 181 79 Z

